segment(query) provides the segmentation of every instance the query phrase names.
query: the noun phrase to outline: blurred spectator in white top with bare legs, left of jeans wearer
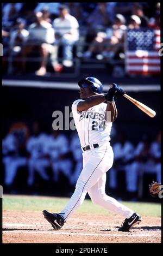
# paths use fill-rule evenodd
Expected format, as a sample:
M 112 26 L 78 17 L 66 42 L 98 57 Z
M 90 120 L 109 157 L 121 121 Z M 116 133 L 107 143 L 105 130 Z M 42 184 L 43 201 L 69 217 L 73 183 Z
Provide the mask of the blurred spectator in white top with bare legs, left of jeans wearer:
M 32 51 L 39 48 L 40 57 L 42 61 L 40 63 L 40 68 L 35 72 L 36 75 L 46 74 L 46 65 L 49 53 L 52 53 L 55 49 L 52 45 L 54 43 L 54 29 L 51 23 L 43 20 L 43 15 L 41 12 L 36 13 L 36 22 L 32 23 L 29 28 L 29 36 L 27 44 L 23 47 L 23 57 L 26 57 Z M 26 62 L 23 61 L 23 70 L 26 69 Z

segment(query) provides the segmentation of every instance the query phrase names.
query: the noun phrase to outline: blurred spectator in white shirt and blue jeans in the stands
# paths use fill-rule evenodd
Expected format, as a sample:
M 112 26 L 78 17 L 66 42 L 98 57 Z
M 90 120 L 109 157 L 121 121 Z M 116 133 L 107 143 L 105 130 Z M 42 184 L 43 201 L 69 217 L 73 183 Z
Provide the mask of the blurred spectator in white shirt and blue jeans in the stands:
M 62 45 L 62 63 L 66 67 L 73 65 L 73 45 L 79 39 L 79 24 L 75 17 L 69 14 L 69 9 L 66 5 L 60 5 L 59 17 L 54 19 L 53 27 L 55 29 L 56 43 Z M 53 64 L 55 70 L 55 62 Z

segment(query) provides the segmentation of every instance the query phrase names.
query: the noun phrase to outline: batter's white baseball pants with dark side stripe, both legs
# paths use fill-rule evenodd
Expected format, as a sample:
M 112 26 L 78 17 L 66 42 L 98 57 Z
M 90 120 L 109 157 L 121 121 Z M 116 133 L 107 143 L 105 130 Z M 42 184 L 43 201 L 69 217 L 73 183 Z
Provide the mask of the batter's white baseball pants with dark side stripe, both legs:
M 61 211 L 61 215 L 66 220 L 82 205 L 86 193 L 89 193 L 93 203 L 103 206 L 108 211 L 113 211 L 125 218 L 133 215 L 133 210 L 105 194 L 106 171 L 111 168 L 113 157 L 109 142 L 101 143 L 99 148 L 83 152 L 83 170 L 78 178 L 76 189 L 65 209 Z

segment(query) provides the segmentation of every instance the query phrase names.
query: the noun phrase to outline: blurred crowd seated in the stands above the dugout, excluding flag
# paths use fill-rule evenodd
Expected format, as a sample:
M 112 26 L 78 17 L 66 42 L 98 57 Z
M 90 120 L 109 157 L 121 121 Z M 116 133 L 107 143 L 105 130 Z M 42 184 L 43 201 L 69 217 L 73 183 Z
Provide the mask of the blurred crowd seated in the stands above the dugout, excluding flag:
M 39 76 L 48 63 L 54 73 L 72 67 L 74 57 L 124 61 L 126 30 L 147 27 L 160 28 L 159 2 L 2 4 L 3 55 L 17 57 L 14 74 L 28 71 L 27 57 L 40 57 Z

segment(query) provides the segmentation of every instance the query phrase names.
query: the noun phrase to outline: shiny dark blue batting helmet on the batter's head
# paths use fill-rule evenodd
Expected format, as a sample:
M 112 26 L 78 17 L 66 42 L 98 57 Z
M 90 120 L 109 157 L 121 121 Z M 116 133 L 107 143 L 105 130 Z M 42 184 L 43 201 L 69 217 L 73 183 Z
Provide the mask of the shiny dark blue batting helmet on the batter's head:
M 86 79 L 80 80 L 78 82 L 78 85 L 82 87 L 82 85 L 89 85 L 91 88 L 91 91 L 95 94 L 102 93 L 103 91 L 103 85 L 97 78 L 92 78 L 92 76 L 89 76 Z

